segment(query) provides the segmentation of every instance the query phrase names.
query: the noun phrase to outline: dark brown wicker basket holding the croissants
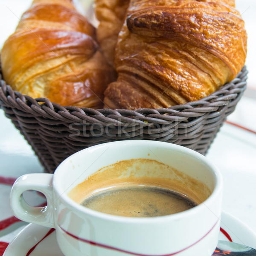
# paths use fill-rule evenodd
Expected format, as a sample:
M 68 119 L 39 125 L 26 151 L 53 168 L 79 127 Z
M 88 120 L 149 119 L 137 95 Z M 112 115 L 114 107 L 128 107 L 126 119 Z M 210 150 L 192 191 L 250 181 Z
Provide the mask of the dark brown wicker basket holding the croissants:
M 45 171 L 53 173 L 71 154 L 114 140 L 160 140 L 206 154 L 241 98 L 246 79 L 244 67 L 236 79 L 200 101 L 134 111 L 63 107 L 22 95 L 1 80 L 0 108 L 32 146 Z

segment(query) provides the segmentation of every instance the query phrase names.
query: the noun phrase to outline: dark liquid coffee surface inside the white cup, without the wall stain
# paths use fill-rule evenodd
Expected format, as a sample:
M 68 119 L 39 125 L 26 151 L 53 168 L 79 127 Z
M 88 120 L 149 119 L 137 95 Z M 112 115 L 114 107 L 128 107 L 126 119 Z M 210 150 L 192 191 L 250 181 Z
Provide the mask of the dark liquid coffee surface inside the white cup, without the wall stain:
M 154 186 L 117 186 L 86 198 L 84 207 L 125 217 L 157 217 L 195 207 L 187 196 Z

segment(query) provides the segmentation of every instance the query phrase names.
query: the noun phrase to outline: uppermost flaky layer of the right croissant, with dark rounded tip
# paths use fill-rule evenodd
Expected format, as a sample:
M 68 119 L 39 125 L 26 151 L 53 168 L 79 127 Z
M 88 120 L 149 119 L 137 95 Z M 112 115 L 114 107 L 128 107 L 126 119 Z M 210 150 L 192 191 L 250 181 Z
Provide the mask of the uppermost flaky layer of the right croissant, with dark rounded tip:
M 236 9 L 214 2 L 183 1 L 178 6 L 141 9 L 127 17 L 137 35 L 183 41 L 220 58 L 233 79 L 244 65 L 246 31 Z M 154 20 L 154 22 L 152 22 Z

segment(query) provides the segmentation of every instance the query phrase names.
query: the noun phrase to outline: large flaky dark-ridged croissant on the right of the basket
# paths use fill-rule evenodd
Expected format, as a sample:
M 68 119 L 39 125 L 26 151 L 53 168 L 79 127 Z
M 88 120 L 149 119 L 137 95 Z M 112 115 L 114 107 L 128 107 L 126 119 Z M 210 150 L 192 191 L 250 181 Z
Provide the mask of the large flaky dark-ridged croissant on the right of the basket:
M 244 66 L 247 34 L 233 0 L 131 0 L 105 108 L 167 108 L 201 99 Z

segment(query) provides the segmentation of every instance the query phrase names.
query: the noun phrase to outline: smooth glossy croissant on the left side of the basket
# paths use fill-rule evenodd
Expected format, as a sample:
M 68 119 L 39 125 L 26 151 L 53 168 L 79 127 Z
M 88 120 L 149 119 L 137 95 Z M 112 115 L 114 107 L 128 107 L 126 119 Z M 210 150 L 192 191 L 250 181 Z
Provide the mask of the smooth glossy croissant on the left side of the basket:
M 20 93 L 60 105 L 102 108 L 116 73 L 96 29 L 72 0 L 35 0 L 1 51 L 3 77 Z

